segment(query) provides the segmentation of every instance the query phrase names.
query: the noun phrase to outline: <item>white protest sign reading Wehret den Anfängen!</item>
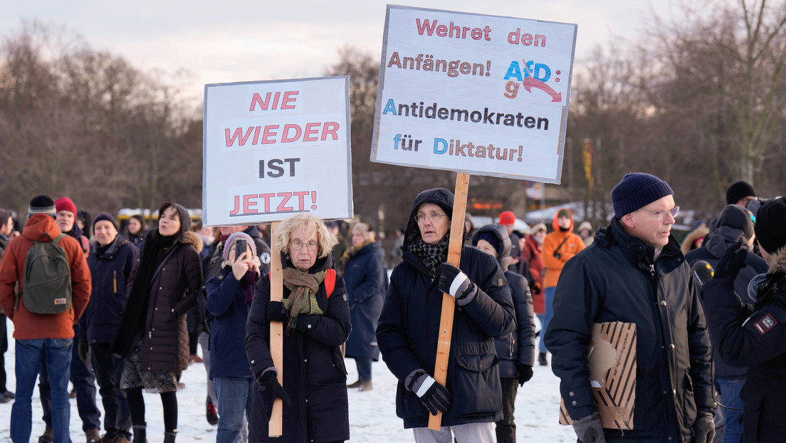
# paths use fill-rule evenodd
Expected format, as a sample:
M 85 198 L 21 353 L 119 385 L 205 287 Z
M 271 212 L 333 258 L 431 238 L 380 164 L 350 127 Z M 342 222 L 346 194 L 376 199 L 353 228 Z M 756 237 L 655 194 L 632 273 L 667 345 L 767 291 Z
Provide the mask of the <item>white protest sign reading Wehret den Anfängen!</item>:
M 576 28 L 388 5 L 371 161 L 560 183 Z

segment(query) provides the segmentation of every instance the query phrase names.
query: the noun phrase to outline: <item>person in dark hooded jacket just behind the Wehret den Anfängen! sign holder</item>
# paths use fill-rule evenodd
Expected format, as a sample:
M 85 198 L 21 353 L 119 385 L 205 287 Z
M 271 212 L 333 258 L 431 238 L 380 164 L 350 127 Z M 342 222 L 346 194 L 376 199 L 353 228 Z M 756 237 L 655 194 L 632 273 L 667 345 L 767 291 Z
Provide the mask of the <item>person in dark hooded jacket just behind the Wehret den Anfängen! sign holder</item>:
M 508 269 L 512 242 L 504 226 L 487 224 L 479 228 L 472 235 L 472 245 L 497 259 L 508 280 L 516 308 L 516 330 L 494 340 L 502 383 L 502 413 L 505 415 L 497 422 L 497 443 L 516 443 L 516 422 L 513 418 L 516 392 L 519 386 L 532 378 L 534 363 L 535 323 L 530 287 L 527 279 Z

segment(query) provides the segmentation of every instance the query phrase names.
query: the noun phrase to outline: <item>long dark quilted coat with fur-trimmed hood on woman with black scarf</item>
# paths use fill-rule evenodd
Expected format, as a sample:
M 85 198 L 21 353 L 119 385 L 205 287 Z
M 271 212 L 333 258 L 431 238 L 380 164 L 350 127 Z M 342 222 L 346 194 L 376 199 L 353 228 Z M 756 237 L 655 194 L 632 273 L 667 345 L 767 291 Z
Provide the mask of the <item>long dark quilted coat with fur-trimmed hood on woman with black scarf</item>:
M 152 242 L 155 230 L 145 234 L 143 245 Z M 115 344 L 112 346 L 122 356 L 133 349 L 142 338 L 141 368 L 145 371 L 182 371 L 189 365 L 189 332 L 185 314 L 196 305 L 202 282 L 199 251 L 202 238 L 185 231 L 174 245 L 168 248 L 156 266 L 146 301 L 129 300 Z M 134 309 L 130 308 L 134 306 Z M 146 309 L 144 308 L 146 307 Z M 138 309 L 143 311 L 138 311 Z M 145 327 L 135 325 L 134 318 L 144 315 Z

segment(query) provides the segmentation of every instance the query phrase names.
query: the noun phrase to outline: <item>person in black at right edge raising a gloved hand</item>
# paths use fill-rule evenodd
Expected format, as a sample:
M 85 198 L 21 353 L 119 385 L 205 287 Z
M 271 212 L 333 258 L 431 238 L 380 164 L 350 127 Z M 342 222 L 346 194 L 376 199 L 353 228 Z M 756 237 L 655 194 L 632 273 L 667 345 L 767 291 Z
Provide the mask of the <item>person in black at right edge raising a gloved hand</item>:
M 713 343 L 729 364 L 747 365 L 743 440 L 783 441 L 786 422 L 786 198 L 765 201 L 756 212 L 755 234 L 769 270 L 751 280 L 751 307 L 735 293 L 737 275 L 752 254 L 738 243 L 729 248 L 714 278 L 703 288 Z

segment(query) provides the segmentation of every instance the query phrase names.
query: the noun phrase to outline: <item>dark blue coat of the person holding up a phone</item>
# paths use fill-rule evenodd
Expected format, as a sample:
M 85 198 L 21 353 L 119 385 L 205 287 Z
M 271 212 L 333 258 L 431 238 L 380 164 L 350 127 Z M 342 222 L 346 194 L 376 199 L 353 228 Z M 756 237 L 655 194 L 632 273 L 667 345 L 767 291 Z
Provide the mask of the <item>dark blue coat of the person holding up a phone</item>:
M 205 307 L 213 316 L 210 331 L 210 378 L 248 377 L 251 369 L 245 355 L 245 323 L 249 305 L 245 304 L 245 282 L 238 282 L 227 266 L 205 286 Z

